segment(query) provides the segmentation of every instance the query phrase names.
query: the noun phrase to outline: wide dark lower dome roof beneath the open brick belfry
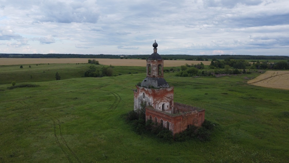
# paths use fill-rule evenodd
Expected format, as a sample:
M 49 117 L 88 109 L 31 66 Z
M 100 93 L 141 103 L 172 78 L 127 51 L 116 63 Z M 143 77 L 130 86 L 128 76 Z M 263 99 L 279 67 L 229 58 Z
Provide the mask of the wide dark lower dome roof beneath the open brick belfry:
M 166 88 L 170 87 L 168 85 L 168 82 L 164 80 L 164 78 L 151 78 L 146 77 L 144 80 L 142 80 L 142 83 L 140 84 L 141 87 L 147 87 L 147 88 Z

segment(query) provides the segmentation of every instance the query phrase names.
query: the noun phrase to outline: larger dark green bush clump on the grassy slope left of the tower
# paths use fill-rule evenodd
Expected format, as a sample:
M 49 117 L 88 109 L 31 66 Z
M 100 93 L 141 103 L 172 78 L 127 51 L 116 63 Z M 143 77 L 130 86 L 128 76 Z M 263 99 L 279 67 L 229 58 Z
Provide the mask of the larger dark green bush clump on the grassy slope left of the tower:
M 103 76 L 112 76 L 113 66 L 102 67 L 100 70 L 97 69 L 94 65 L 91 65 L 89 69 L 84 72 L 84 77 L 103 77 Z

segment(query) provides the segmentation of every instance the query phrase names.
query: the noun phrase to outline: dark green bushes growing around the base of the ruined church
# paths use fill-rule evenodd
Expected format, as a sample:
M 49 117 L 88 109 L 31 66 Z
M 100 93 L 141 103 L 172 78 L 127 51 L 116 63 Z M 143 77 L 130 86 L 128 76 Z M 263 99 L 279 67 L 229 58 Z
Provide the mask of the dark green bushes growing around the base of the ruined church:
M 185 131 L 175 134 L 174 138 L 173 133 L 169 129 L 164 128 L 158 123 L 155 124 L 152 120 L 145 120 L 144 106 L 138 111 L 130 111 L 126 116 L 126 120 L 138 134 L 152 135 L 159 138 L 162 142 L 181 142 L 195 138 L 201 141 L 210 140 L 210 134 L 214 128 L 214 125 L 210 121 L 205 120 L 202 127 L 192 125 Z

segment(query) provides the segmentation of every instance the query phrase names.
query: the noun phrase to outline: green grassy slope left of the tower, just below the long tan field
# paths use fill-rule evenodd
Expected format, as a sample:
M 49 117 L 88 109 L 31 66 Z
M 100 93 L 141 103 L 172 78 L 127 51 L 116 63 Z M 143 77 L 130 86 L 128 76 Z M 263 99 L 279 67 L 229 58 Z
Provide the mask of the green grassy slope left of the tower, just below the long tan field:
M 10 84 L 12 81 L 16 83 L 21 82 L 40 82 L 55 80 L 56 72 L 59 73 L 61 79 L 80 78 L 84 76 L 84 72 L 89 69 L 93 64 L 36 64 L 23 65 L 0 65 L 0 84 Z M 94 65 L 101 69 L 105 65 Z M 108 66 L 105 66 L 108 67 Z M 113 75 L 142 73 L 145 72 L 144 67 L 127 67 L 127 66 L 114 66 Z M 31 78 L 32 76 L 32 78 Z

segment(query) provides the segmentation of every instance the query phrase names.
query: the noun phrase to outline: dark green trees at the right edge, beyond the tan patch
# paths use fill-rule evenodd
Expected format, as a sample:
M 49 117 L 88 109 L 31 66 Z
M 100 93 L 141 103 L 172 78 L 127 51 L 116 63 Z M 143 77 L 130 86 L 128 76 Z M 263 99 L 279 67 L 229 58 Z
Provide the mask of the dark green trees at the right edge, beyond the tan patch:
M 264 61 L 262 63 L 259 60 L 251 66 L 251 69 L 289 69 L 289 60 L 286 61 L 279 61 L 276 63 L 268 63 Z

